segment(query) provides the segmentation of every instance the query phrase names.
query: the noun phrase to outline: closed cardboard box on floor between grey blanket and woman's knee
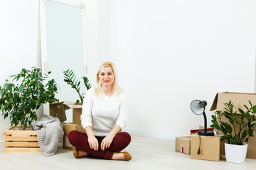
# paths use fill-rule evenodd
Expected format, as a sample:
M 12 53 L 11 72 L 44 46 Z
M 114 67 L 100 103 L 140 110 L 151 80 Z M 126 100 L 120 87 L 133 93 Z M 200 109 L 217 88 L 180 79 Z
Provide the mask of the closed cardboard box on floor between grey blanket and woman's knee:
M 63 148 L 64 149 L 73 150 L 73 145 L 71 145 L 70 142 L 68 141 L 68 134 L 72 130 L 78 130 L 80 132 L 85 132 L 85 130 L 82 128 L 82 125 L 75 125 L 75 124 L 72 124 L 72 123 L 65 123 L 63 125 L 63 131 L 64 131 Z

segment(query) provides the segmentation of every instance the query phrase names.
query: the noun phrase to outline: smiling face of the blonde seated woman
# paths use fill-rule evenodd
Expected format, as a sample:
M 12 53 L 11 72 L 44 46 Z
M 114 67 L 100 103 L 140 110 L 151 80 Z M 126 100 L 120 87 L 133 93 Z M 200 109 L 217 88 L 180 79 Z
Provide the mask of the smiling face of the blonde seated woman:
M 111 67 L 104 67 L 99 74 L 100 84 L 102 86 L 112 86 L 114 83 L 114 72 Z

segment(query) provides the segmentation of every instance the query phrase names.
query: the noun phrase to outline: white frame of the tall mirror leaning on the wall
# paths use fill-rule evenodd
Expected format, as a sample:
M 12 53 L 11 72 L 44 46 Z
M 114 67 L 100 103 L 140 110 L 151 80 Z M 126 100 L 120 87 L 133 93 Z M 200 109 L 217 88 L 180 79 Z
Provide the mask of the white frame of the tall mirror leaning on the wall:
M 85 3 L 82 0 L 48 0 L 61 4 L 75 6 L 82 9 L 82 50 L 84 57 L 84 74 L 87 75 L 87 60 L 85 55 Z M 47 48 L 46 48 L 46 0 L 40 0 L 40 25 L 41 25 L 41 59 L 42 59 L 42 71 L 43 74 L 48 74 L 48 60 L 47 60 Z M 46 80 L 47 81 L 47 80 Z M 43 84 L 46 85 L 46 81 Z M 50 115 L 49 103 L 43 104 L 43 113 Z

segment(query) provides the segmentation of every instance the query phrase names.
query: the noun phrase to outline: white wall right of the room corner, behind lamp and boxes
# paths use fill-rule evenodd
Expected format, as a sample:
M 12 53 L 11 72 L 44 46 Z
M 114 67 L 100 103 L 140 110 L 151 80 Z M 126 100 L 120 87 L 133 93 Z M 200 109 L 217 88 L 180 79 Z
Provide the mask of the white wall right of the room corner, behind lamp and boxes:
M 254 92 L 255 1 L 113 0 L 110 59 L 131 98 L 127 130 L 174 139 L 203 125 L 194 99 Z

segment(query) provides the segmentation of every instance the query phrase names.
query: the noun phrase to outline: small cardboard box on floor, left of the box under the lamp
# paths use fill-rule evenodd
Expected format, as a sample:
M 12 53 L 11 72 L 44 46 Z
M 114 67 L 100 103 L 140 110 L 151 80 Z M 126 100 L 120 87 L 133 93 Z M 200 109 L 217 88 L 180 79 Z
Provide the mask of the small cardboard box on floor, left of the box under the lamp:
M 190 154 L 190 148 L 191 148 L 191 137 L 176 137 L 175 140 L 175 150 L 177 152 Z

